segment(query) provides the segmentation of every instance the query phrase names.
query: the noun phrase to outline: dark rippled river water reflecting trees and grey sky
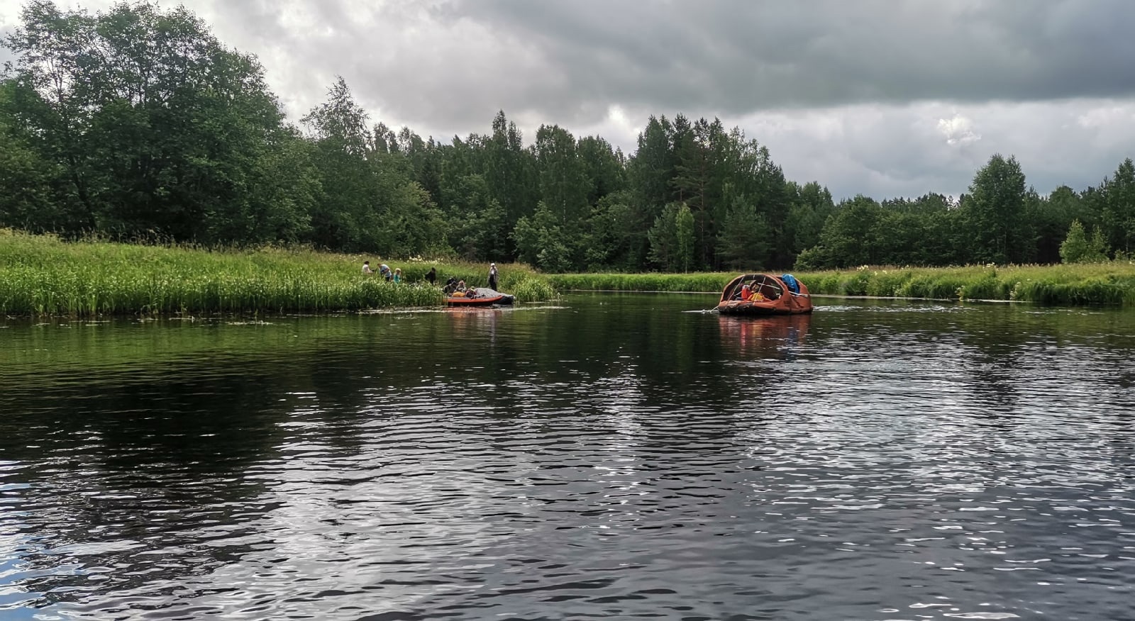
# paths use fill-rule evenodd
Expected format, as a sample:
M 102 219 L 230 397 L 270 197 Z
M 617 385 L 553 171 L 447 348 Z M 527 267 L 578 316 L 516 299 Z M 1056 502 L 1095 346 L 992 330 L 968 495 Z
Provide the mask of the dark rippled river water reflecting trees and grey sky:
M 0 323 L 0 619 L 1135 619 L 1130 310 Z

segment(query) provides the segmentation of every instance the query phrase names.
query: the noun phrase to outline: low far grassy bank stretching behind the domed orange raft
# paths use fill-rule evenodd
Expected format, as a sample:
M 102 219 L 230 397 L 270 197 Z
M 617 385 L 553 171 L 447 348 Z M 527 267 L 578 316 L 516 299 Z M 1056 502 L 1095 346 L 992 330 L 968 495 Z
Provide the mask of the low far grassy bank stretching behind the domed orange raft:
M 813 294 L 1135 306 L 1135 264 L 860 267 L 793 272 Z M 737 272 L 550 274 L 560 290 L 718 292 Z

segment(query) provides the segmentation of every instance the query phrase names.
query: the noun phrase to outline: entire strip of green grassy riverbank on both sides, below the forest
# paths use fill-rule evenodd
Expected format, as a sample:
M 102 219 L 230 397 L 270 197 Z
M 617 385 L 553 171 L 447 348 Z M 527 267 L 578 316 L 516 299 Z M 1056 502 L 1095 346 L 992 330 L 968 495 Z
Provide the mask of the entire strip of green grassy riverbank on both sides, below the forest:
M 363 275 L 362 261 L 403 271 L 402 283 Z M 0 230 L 0 314 L 178 316 L 351 313 L 445 305 L 448 277 L 487 284 L 487 266 L 457 260 L 395 261 L 310 248 L 210 249 L 112 241 L 66 243 Z M 518 301 L 557 291 L 713 295 L 738 272 L 545 274 L 499 264 L 501 289 Z M 1135 264 L 868 267 L 793 272 L 817 296 L 1135 306 Z

